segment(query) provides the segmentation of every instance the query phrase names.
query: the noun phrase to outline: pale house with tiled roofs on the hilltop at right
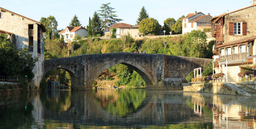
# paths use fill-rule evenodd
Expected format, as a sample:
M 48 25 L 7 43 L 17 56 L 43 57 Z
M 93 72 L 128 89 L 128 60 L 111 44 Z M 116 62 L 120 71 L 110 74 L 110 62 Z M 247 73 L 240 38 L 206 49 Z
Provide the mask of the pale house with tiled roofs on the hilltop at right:
M 207 13 L 207 15 L 196 11 L 189 13 L 185 18 L 182 18 L 182 34 L 186 34 L 192 30 L 203 31 L 204 28 L 211 28 L 211 22 L 209 22 L 211 18 L 210 13 Z

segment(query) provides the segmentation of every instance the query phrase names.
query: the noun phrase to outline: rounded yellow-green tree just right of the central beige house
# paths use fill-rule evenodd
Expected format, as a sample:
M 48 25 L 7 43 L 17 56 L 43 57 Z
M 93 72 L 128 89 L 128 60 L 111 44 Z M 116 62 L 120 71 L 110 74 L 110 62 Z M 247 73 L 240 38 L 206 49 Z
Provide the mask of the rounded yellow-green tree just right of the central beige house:
M 140 22 L 139 31 L 144 35 L 158 34 L 161 25 L 155 18 L 145 18 Z

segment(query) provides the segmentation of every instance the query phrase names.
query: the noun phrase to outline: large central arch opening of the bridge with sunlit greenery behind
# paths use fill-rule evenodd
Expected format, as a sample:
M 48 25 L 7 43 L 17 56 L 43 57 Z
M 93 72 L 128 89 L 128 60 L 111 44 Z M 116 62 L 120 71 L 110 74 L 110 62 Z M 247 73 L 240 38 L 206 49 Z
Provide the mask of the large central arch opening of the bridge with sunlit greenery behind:
M 111 64 L 111 65 L 110 65 Z M 101 68 L 93 77 L 92 86 L 146 88 L 151 86 L 152 76 L 139 64 L 112 62 Z

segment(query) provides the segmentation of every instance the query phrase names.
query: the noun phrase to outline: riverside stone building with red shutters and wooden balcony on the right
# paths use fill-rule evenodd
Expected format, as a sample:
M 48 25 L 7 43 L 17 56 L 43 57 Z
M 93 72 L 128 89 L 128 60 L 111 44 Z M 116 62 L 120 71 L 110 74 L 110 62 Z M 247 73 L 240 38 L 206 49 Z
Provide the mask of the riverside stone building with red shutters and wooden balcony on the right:
M 215 71 L 227 75 L 228 82 L 239 81 L 239 66 L 255 63 L 256 0 L 252 5 L 211 18 Z M 227 67 L 227 68 L 225 68 Z

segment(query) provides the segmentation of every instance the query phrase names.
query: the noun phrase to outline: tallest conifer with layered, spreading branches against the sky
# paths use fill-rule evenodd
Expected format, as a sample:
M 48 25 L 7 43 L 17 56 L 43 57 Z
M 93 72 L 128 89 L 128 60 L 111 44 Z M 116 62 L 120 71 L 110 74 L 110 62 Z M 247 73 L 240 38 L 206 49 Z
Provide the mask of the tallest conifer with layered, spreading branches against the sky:
M 100 11 L 100 17 L 102 20 L 102 26 L 104 27 L 104 31 L 106 31 L 106 28 L 109 28 L 110 26 L 114 25 L 116 22 L 122 21 L 122 19 L 116 18 L 117 15 L 114 14 L 116 11 L 112 11 L 114 8 L 109 7 L 109 4 L 102 4 L 100 8 L 102 10 Z

